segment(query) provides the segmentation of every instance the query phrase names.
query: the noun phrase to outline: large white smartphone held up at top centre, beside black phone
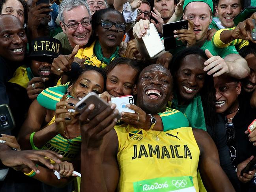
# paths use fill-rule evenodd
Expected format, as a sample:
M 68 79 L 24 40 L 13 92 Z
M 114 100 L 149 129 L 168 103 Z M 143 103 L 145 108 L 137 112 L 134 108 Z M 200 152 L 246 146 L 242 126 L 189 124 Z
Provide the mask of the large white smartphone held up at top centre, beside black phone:
M 149 28 L 146 30 L 146 34 L 142 36 L 142 40 L 150 58 L 157 58 L 163 54 L 164 44 L 153 23 L 149 24 Z

